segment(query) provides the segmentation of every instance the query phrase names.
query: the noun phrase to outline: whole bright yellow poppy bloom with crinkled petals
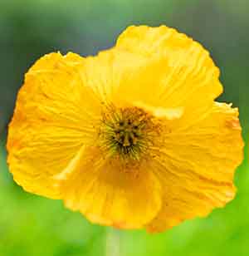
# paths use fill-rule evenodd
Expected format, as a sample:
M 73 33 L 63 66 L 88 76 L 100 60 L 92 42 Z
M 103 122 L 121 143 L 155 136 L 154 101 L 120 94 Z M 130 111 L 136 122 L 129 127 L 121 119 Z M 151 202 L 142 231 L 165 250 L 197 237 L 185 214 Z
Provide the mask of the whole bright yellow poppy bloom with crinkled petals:
M 24 190 L 97 224 L 162 231 L 233 199 L 237 108 L 208 52 L 168 27 L 128 27 L 96 57 L 51 53 L 27 72 L 8 164 Z

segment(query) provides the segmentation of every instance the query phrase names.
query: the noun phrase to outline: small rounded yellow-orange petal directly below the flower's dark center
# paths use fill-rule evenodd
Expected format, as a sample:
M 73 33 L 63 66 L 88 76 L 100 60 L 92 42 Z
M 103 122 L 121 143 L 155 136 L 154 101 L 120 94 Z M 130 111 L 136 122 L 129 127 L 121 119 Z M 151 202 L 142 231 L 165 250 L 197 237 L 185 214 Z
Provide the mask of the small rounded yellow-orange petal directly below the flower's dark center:
M 86 148 L 61 186 L 66 207 L 80 210 L 96 224 L 141 228 L 159 212 L 159 181 L 144 164 L 125 165 Z

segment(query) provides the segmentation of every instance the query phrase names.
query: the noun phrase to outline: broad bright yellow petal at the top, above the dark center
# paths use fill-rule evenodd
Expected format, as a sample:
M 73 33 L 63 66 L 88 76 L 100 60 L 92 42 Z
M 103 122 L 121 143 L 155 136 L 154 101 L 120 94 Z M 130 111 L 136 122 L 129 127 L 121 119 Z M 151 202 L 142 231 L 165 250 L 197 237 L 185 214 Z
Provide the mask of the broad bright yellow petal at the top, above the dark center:
M 198 115 L 221 94 L 219 70 L 208 52 L 168 27 L 128 27 L 114 48 L 84 61 L 85 83 L 102 101 L 142 102 Z

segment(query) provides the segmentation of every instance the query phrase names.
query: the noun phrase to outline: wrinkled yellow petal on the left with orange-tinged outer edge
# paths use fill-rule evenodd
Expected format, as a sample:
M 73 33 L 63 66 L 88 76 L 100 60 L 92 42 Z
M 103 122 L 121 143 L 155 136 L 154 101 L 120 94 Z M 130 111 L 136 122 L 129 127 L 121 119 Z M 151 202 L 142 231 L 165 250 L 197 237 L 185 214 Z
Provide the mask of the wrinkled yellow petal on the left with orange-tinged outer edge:
M 27 72 L 8 130 L 8 164 L 17 184 L 60 198 L 54 175 L 94 137 L 100 101 L 81 81 L 82 58 L 42 57 Z

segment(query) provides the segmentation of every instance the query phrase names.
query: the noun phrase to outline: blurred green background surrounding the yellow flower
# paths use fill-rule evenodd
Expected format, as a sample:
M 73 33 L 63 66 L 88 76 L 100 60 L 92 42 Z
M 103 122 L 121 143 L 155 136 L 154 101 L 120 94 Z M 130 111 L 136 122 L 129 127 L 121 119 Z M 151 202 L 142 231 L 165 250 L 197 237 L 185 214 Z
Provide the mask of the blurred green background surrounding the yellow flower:
M 221 101 L 240 107 L 249 127 L 248 0 L 0 0 L 0 256 L 118 256 L 106 252 L 115 231 L 88 223 L 60 201 L 25 193 L 6 165 L 5 137 L 23 74 L 47 52 L 95 54 L 130 24 L 166 24 L 201 42 L 222 71 Z M 249 105 L 249 104 L 248 104 Z M 249 138 L 248 138 L 249 139 Z M 237 170 L 238 193 L 207 219 L 164 234 L 122 231 L 121 256 L 249 255 L 249 164 Z

